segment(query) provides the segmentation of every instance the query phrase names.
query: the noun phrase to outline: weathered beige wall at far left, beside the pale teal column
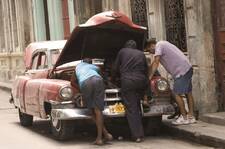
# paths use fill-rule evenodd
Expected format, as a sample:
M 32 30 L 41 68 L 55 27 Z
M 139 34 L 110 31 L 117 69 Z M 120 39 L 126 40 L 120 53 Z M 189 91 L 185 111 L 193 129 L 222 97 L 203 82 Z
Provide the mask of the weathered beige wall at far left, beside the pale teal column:
M 23 51 L 33 41 L 31 1 L 0 0 L 0 81 L 14 79 L 24 71 Z

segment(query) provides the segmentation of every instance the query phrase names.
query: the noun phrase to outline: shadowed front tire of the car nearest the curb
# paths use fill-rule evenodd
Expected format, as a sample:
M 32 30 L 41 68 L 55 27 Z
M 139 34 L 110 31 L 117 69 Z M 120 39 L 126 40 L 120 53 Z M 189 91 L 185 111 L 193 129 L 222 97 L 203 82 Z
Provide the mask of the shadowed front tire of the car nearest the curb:
M 147 136 L 159 135 L 162 128 L 162 116 L 144 118 L 144 131 Z

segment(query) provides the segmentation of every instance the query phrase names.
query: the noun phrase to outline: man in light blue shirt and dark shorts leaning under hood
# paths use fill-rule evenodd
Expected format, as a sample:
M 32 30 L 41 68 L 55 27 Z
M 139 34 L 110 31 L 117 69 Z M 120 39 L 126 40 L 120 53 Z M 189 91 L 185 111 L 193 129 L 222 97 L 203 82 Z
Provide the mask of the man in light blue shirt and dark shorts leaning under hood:
M 105 88 L 100 70 L 91 64 L 91 59 L 84 59 L 75 68 L 80 91 L 88 109 L 92 110 L 92 117 L 97 126 L 96 145 L 102 145 L 102 134 L 105 139 L 112 140 L 112 135 L 106 130 L 103 122 Z M 72 81 L 73 83 L 75 81 Z

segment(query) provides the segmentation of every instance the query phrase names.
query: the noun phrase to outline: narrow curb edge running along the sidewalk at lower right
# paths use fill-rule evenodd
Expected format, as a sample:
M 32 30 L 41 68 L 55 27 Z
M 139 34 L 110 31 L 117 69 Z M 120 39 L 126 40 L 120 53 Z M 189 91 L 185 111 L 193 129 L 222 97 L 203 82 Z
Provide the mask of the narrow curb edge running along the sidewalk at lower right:
M 199 144 L 216 147 L 216 148 L 225 148 L 225 138 L 221 139 L 216 135 L 210 135 L 206 133 L 201 133 L 200 131 L 193 130 L 190 128 L 183 129 L 179 126 L 173 126 L 170 122 L 164 122 L 163 130 L 170 134 L 171 136 L 179 137 L 182 139 L 187 139 Z

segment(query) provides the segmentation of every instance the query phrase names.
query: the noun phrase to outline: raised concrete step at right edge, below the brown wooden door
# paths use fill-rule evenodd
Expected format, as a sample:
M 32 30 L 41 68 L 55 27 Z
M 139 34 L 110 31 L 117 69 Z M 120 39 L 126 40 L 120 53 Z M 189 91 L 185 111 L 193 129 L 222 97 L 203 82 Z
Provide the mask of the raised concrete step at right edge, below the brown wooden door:
M 204 114 L 201 116 L 201 120 L 206 123 L 225 126 L 225 112 Z

